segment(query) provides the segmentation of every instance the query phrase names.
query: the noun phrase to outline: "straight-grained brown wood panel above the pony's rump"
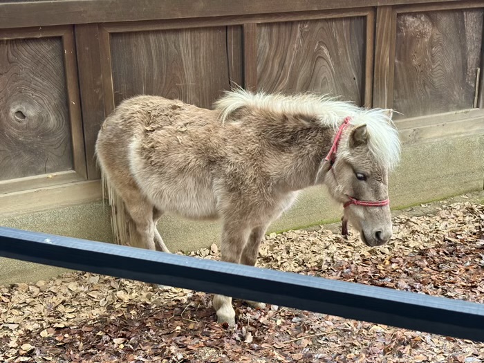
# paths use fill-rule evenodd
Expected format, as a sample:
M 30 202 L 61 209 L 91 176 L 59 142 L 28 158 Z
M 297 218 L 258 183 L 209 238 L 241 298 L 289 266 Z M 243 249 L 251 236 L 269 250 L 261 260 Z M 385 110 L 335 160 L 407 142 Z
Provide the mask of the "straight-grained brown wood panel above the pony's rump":
M 228 64 L 225 26 L 115 33 L 111 57 L 115 104 L 152 94 L 211 108 L 221 91 L 230 89 L 229 68 L 234 69 Z

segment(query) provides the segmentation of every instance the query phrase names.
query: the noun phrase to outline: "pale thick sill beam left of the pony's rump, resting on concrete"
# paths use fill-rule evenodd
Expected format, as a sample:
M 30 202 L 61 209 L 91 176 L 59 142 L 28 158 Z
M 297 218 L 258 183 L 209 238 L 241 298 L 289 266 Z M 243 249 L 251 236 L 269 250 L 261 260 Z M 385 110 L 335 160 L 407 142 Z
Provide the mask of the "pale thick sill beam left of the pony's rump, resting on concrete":
M 0 194 L 0 217 L 57 209 L 102 198 L 100 180 Z

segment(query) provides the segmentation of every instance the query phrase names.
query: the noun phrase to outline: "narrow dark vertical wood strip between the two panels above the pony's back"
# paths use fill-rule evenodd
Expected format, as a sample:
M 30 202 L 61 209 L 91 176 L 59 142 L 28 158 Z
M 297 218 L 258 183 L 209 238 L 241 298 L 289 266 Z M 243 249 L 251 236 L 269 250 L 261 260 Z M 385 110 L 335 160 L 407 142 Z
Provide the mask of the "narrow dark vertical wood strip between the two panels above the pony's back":
M 227 62 L 230 87 L 243 86 L 243 30 L 227 26 Z

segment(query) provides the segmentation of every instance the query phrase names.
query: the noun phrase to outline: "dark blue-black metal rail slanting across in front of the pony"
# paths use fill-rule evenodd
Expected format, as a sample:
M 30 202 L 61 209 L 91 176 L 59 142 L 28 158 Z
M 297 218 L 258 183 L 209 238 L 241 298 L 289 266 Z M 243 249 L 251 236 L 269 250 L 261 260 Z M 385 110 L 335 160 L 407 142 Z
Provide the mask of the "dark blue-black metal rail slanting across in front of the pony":
M 0 256 L 484 342 L 484 304 L 0 227 Z

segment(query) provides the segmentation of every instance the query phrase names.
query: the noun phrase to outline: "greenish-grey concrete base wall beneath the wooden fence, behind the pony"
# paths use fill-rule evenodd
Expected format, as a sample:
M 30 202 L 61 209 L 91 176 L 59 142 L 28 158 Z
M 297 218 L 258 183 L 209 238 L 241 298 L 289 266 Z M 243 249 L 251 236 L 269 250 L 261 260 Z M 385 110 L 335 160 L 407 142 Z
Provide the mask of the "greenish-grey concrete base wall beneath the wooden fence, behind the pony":
M 406 147 L 400 167 L 390 178 L 393 209 L 427 203 L 483 189 L 484 135 Z M 327 197 L 324 187 L 307 189 L 294 207 L 275 221 L 269 232 L 339 221 L 342 207 Z M 109 210 L 102 202 L 64 207 L 10 218 L 0 225 L 93 241 L 111 242 Z M 158 230 L 172 251 L 190 251 L 219 244 L 218 223 L 185 221 L 164 216 Z M 48 279 L 62 270 L 0 259 L 0 285 Z

